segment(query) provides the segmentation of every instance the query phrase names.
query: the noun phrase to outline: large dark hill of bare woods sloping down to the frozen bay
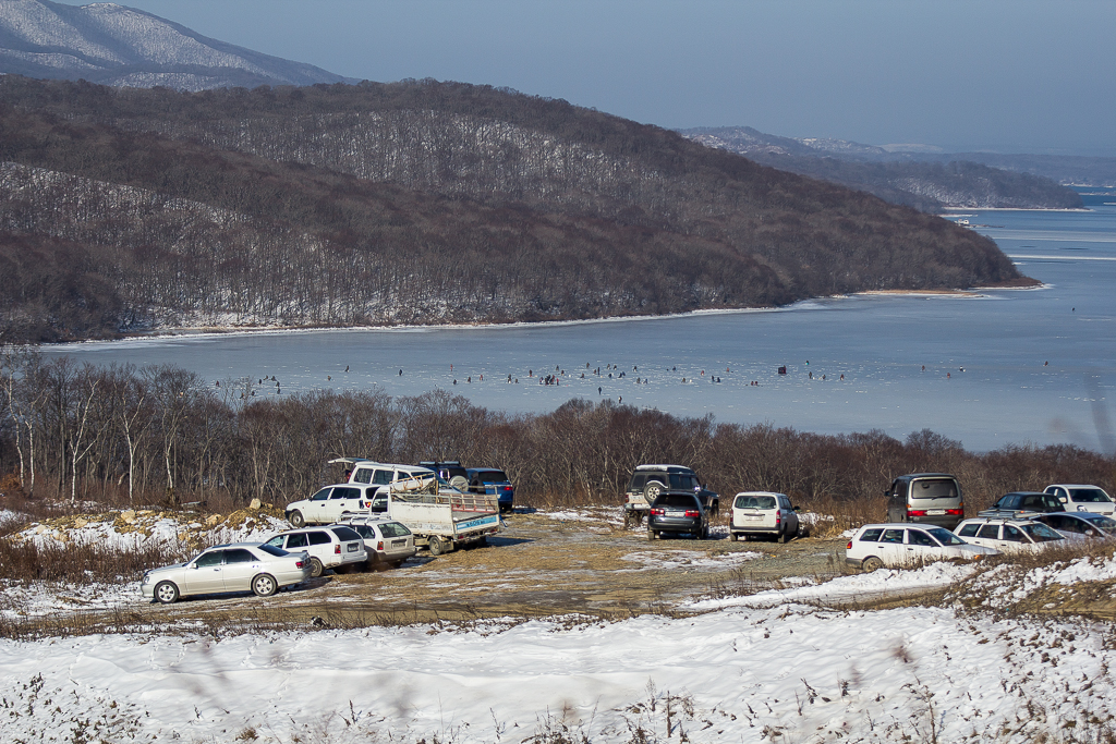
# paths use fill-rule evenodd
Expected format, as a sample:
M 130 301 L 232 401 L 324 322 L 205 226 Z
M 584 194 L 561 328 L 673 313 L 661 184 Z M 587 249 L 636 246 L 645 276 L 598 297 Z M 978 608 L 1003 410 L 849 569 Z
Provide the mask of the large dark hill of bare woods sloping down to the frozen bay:
M 945 220 L 452 83 L 202 93 L 0 78 L 0 323 L 596 318 L 1027 282 Z

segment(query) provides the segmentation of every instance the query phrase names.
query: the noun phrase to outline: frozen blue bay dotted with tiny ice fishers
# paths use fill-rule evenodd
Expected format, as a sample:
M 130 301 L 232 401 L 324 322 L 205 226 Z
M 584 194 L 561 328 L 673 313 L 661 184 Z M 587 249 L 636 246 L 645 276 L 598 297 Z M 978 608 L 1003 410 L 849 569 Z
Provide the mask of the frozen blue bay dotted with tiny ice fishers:
M 1041 289 L 541 326 L 194 335 L 46 354 L 172 364 L 211 384 L 249 378 L 257 396 L 441 388 L 513 413 L 609 398 L 819 433 L 882 429 L 903 438 L 930 428 L 977 451 L 1071 443 L 1110 452 L 1116 196 L 1086 199 L 1088 211 L 952 216 L 994 239 Z M 540 385 L 546 375 L 560 384 Z M 258 383 L 272 376 L 278 386 Z

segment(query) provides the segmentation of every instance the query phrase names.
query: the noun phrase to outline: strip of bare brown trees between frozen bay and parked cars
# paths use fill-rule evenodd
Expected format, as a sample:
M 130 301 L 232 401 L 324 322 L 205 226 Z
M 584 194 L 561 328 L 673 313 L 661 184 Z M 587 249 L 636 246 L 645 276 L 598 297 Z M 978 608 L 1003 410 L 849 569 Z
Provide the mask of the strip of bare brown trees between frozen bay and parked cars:
M 266 393 L 271 395 L 264 395 Z M 498 466 L 519 503 L 619 504 L 636 465 L 694 467 L 723 496 L 876 500 L 911 472 L 951 472 L 970 509 L 1051 482 L 1116 481 L 1116 461 L 1069 445 L 978 454 L 930 431 L 819 435 L 573 399 L 493 412 L 435 390 L 275 395 L 262 379 L 204 380 L 170 366 L 94 367 L 33 349 L 0 355 L 0 476 L 32 499 L 173 506 L 283 504 L 334 482 L 328 460 L 461 460 Z M 6 486 L 8 487 L 8 486 Z M 883 514 L 877 518 L 882 519 Z

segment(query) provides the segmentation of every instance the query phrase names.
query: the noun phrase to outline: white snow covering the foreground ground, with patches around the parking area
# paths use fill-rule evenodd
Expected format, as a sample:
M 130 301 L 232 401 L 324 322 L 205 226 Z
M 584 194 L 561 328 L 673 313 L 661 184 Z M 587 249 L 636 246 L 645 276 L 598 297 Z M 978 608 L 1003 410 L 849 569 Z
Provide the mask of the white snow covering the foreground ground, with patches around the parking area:
M 136 523 L 180 540 L 183 525 L 165 519 Z M 261 522 L 227 537 L 254 535 Z M 25 539 L 109 529 L 40 526 Z M 680 566 L 701 560 L 685 552 Z M 1042 592 L 1110 597 L 1114 584 L 1116 558 L 1104 554 L 1031 569 L 931 564 L 802 579 L 617 622 L 0 640 L 0 734 L 282 744 L 1107 741 L 1098 736 L 1113 731 L 1113 625 L 1016 610 Z M 935 607 L 841 608 L 925 589 L 950 593 Z M 127 586 L 68 591 L 69 605 L 33 584 L 0 596 L 37 597 L 28 603 L 40 613 L 138 601 Z

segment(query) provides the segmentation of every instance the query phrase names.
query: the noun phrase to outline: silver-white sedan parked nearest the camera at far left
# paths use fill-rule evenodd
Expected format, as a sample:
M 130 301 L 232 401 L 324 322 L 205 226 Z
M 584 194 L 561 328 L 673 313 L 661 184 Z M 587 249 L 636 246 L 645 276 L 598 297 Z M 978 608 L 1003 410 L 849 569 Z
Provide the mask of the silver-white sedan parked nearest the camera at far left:
M 152 569 L 143 574 L 144 598 L 164 605 L 193 595 L 251 591 L 270 597 L 310 578 L 310 557 L 258 542 L 206 548 L 193 560 Z

